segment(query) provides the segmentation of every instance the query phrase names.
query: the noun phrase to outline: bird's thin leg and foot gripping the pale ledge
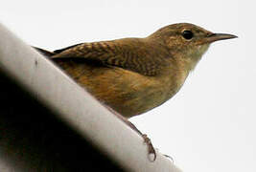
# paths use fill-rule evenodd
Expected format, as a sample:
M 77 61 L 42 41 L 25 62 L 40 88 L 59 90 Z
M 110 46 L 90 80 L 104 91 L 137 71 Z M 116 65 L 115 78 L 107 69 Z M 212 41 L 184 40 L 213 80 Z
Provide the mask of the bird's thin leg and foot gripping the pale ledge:
M 153 160 L 155 161 L 156 159 L 156 152 L 154 147 L 152 146 L 151 143 L 151 139 L 148 138 L 148 136 L 146 134 L 141 133 L 140 130 L 137 129 L 137 127 L 131 123 L 128 118 L 124 118 L 123 116 L 121 116 L 119 113 L 117 113 L 116 111 L 114 111 L 113 109 L 111 109 L 110 107 L 106 106 L 106 108 L 112 113 L 114 114 L 117 118 L 120 118 L 121 120 L 123 120 L 126 124 L 128 124 L 128 126 L 133 129 L 135 132 L 137 132 L 144 140 L 144 142 L 148 145 L 148 151 L 149 151 L 149 155 L 153 155 Z M 151 160 L 151 159 L 150 159 Z

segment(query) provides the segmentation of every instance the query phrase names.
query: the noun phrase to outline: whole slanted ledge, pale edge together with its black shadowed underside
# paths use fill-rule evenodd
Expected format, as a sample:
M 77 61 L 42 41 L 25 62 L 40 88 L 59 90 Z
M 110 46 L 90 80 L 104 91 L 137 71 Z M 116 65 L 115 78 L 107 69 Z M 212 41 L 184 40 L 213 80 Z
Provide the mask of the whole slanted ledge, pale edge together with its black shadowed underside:
M 0 25 L 0 171 L 169 171 L 174 164 Z

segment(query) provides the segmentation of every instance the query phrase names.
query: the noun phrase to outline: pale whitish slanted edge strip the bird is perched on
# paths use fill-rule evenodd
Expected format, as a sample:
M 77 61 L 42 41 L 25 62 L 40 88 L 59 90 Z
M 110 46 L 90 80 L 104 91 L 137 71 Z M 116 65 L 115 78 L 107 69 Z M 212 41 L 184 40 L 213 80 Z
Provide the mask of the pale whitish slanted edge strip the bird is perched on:
M 141 137 L 1 24 L 0 67 L 129 171 L 180 172 L 159 153 L 149 161 Z

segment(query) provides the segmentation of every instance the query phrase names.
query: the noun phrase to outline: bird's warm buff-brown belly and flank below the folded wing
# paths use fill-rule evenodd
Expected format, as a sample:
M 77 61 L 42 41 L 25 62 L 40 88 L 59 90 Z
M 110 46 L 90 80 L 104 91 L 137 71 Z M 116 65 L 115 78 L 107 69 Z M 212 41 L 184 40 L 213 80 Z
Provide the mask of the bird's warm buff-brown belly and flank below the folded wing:
M 165 83 L 154 76 L 72 60 L 58 65 L 92 96 L 127 118 L 162 104 L 168 95 Z

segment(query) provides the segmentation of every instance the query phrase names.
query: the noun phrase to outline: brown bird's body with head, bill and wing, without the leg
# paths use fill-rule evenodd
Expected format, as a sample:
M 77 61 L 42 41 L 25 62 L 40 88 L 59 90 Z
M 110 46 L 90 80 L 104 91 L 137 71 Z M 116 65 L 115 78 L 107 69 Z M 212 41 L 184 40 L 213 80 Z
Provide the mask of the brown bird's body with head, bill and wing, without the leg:
M 174 97 L 210 43 L 235 37 L 180 23 L 145 38 L 81 43 L 54 52 L 35 49 L 105 105 L 131 118 Z

